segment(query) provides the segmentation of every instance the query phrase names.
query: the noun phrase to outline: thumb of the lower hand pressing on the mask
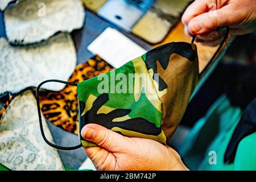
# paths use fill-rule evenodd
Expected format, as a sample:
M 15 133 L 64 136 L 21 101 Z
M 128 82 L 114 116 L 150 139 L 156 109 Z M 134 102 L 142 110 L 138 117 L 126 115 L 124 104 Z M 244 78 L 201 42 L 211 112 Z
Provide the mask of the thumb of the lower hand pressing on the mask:
M 81 136 L 110 152 L 122 152 L 129 149 L 129 138 L 100 125 L 85 125 L 81 130 Z

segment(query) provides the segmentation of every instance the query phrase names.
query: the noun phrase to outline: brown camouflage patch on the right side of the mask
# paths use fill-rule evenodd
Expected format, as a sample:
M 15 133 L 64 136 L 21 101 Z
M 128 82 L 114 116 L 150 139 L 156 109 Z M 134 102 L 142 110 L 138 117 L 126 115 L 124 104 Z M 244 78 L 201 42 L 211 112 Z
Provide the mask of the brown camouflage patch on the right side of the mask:
M 195 44 L 193 44 L 193 49 L 196 51 Z M 167 69 L 163 69 L 159 62 L 156 62 L 156 66 L 159 76 L 167 85 L 171 85 L 167 87 L 167 94 L 160 97 L 160 101 L 163 103 L 162 130 L 168 140 L 179 125 L 189 98 L 199 80 L 199 65 L 197 60 L 188 61 L 185 57 L 173 53 L 170 56 Z

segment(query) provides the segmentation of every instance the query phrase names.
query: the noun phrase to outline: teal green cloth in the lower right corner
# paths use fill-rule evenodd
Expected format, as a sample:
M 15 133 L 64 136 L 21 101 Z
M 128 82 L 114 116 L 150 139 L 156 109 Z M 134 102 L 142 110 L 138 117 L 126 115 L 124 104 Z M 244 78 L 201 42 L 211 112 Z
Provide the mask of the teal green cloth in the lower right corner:
M 224 154 L 233 135 L 242 110 L 233 107 L 222 95 L 210 107 L 181 143 L 180 155 L 191 170 L 256 170 L 256 133 L 243 138 L 238 145 L 234 163 L 225 164 Z M 216 164 L 212 161 L 216 152 Z

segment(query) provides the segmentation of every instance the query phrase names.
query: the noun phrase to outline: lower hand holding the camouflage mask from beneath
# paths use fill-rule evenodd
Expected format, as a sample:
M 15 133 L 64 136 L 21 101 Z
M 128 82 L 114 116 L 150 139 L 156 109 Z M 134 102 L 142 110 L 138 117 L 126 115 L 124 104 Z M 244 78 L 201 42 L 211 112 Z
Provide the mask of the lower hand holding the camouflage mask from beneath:
M 128 138 L 88 124 L 81 136 L 97 147 L 84 148 L 98 170 L 188 170 L 177 152 L 150 139 Z

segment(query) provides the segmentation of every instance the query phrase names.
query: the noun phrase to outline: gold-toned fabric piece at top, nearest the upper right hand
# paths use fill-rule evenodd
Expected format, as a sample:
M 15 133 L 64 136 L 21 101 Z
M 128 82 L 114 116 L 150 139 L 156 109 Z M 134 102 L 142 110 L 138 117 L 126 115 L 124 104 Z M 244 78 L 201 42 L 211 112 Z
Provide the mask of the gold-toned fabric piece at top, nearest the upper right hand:
M 151 44 L 162 42 L 191 0 L 157 0 L 131 32 Z

